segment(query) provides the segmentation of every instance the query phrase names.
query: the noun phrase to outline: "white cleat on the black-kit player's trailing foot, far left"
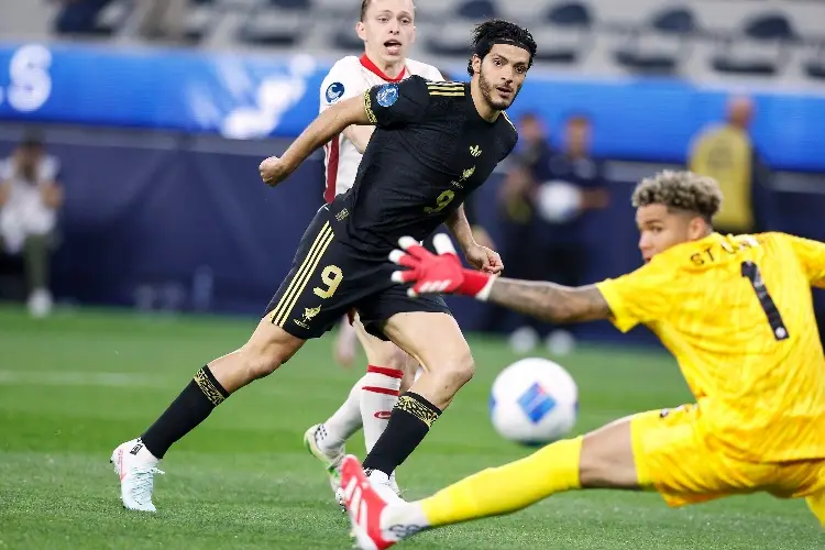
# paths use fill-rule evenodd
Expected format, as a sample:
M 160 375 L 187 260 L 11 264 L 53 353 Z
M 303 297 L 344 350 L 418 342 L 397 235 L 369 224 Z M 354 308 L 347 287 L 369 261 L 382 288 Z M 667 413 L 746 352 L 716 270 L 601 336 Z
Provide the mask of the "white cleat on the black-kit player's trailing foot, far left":
M 120 477 L 120 498 L 123 507 L 130 510 L 155 512 L 152 504 L 152 490 L 155 474 L 163 474 L 157 459 L 146 450 L 140 439 L 121 443 L 112 451 L 109 462 Z

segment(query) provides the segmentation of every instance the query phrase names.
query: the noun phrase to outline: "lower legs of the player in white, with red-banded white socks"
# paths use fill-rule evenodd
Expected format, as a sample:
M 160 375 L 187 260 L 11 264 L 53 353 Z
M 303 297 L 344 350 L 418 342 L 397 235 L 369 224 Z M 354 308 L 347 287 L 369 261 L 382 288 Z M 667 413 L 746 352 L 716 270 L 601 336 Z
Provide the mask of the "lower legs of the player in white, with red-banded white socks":
M 310 427 L 304 436 L 305 447 L 323 464 L 339 504 L 344 442 L 363 426 L 364 442 L 370 452 L 386 428 L 400 388 L 405 382 L 406 387 L 409 387 L 417 366 L 395 344 L 367 333 L 358 318 L 353 320 L 351 330 L 364 348 L 370 365 L 367 372 L 352 387 L 343 405 L 327 421 Z M 399 494 L 394 473 L 389 481 L 393 491 Z

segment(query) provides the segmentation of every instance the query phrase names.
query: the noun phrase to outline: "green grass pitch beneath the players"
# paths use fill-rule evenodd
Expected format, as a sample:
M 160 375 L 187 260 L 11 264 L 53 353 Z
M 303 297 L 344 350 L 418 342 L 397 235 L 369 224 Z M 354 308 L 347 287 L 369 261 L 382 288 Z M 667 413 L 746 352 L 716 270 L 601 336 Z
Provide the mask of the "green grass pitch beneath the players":
M 253 326 L 87 310 L 37 322 L 0 309 L 0 549 L 349 548 L 346 518 L 301 446 L 306 428 L 362 373 L 332 363 L 330 338 L 233 396 L 169 452 L 156 515 L 120 505 L 111 450 Z M 502 441 L 487 419 L 493 377 L 516 358 L 495 339 L 471 345 L 476 378 L 398 471 L 408 498 L 529 452 Z M 564 365 L 581 391 L 580 432 L 689 399 L 675 364 L 658 351 L 588 346 Z M 350 450 L 363 455 L 360 436 Z M 400 548 L 814 550 L 825 536 L 802 502 L 760 495 L 672 510 L 654 494 L 597 492 Z

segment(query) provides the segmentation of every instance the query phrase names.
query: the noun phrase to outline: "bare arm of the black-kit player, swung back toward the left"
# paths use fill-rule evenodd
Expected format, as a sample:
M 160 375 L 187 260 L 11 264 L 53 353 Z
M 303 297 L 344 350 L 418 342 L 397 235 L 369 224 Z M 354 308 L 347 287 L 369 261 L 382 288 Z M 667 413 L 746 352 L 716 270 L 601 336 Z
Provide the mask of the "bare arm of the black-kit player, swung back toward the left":
M 271 156 L 261 163 L 261 178 L 277 185 L 295 172 L 317 148 L 352 124 L 372 124 L 364 98 L 345 99 L 320 113 L 278 158 Z

